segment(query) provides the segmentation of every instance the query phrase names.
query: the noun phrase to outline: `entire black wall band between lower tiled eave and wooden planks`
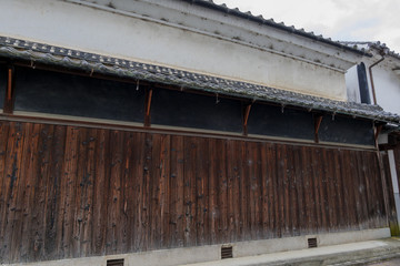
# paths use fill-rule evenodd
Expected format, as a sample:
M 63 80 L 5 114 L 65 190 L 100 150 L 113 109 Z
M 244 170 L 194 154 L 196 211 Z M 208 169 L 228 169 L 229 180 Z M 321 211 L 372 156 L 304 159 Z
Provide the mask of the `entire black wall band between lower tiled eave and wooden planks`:
M 17 113 L 134 122 L 139 126 L 172 126 L 186 131 L 246 132 L 250 136 L 308 142 L 313 142 L 316 137 L 314 114 L 303 109 L 21 66 L 16 68 L 13 73 Z M 249 104 L 248 124 L 244 125 Z M 374 145 L 371 121 L 333 117 L 337 119 L 326 115 L 322 120 L 321 142 Z

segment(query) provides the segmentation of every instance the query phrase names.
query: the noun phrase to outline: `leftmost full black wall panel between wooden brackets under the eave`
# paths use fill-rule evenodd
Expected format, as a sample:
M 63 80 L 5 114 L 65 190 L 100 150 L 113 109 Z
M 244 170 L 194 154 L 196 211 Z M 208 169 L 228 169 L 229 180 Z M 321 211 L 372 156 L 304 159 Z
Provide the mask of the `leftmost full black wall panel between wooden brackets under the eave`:
M 17 68 L 14 110 L 143 123 L 144 90 L 131 83 Z

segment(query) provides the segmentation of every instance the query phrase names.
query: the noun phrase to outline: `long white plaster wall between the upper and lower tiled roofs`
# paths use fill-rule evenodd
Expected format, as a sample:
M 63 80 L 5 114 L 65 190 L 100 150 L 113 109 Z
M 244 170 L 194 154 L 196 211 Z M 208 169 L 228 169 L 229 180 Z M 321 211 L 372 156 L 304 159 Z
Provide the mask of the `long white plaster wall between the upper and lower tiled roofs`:
M 2 35 L 347 100 L 343 73 L 239 43 L 64 1 L 0 7 Z

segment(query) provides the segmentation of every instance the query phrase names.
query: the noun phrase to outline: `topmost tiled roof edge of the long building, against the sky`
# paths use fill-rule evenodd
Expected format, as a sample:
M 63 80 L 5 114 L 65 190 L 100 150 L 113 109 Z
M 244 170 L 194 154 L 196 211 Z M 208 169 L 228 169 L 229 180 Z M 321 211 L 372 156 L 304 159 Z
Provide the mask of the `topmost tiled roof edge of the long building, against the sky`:
M 181 0 L 184 2 L 189 2 L 196 6 L 200 6 L 200 7 L 204 7 L 204 8 L 209 8 L 209 9 L 213 9 L 220 12 L 224 12 L 228 14 L 232 14 L 239 18 L 243 18 L 246 20 L 250 20 L 260 24 L 264 24 L 268 27 L 272 27 L 296 35 L 301 35 L 308 39 L 312 39 L 319 42 L 323 42 L 340 49 L 344 49 L 358 54 L 364 54 L 364 55 L 370 55 L 369 53 L 367 53 L 364 50 L 362 49 L 354 49 L 352 47 L 346 45 L 339 41 L 333 41 L 331 38 L 324 38 L 323 35 L 316 35 L 312 31 L 308 32 L 304 29 L 296 29 L 294 25 L 286 25 L 283 22 L 276 22 L 273 19 L 264 19 L 262 16 L 253 16 L 250 11 L 248 12 L 242 12 L 240 11 L 238 8 L 231 9 L 228 8 L 227 4 L 222 3 L 222 4 L 217 4 L 214 3 L 213 0 Z

